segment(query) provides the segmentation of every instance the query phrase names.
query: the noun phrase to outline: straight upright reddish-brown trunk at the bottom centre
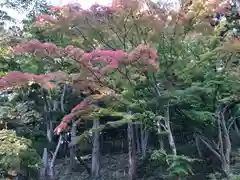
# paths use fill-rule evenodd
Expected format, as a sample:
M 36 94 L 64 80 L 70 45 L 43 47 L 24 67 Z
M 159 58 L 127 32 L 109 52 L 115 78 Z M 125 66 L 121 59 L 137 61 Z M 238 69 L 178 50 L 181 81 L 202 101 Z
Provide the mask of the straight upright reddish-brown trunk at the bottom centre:
M 128 169 L 128 180 L 136 180 L 136 148 L 134 143 L 134 131 L 132 122 L 128 123 L 128 158 L 129 158 L 129 169 Z

